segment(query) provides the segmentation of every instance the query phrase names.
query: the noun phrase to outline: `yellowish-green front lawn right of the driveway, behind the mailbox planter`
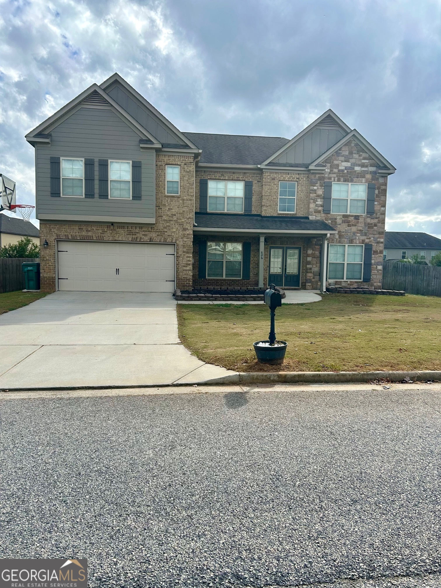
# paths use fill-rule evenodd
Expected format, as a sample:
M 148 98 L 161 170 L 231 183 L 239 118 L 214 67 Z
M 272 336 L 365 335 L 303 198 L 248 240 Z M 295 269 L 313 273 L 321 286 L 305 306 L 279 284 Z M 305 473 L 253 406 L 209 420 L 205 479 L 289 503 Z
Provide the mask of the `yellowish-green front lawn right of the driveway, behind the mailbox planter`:
M 239 372 L 365 372 L 441 369 L 441 298 L 325 294 L 284 304 L 276 335 L 285 363 L 256 362 L 252 343 L 268 339 L 265 305 L 178 304 L 179 337 L 194 355 Z

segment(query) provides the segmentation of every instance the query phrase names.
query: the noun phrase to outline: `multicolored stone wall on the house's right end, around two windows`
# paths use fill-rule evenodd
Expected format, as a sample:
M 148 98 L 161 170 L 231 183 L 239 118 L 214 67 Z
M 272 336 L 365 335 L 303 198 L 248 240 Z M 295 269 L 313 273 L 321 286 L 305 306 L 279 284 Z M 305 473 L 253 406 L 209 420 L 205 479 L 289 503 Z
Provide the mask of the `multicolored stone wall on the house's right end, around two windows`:
M 310 176 L 310 219 L 322 219 L 338 230 L 329 243 L 365 245 L 372 243 L 372 277 L 370 282 L 328 280 L 329 285 L 350 288 L 381 288 L 383 248 L 386 220 L 387 176 L 379 176 L 379 164 L 356 141 L 350 139 L 333 153 L 326 163 L 325 173 Z M 376 185 L 373 215 L 342 215 L 323 213 L 324 182 L 372 182 Z

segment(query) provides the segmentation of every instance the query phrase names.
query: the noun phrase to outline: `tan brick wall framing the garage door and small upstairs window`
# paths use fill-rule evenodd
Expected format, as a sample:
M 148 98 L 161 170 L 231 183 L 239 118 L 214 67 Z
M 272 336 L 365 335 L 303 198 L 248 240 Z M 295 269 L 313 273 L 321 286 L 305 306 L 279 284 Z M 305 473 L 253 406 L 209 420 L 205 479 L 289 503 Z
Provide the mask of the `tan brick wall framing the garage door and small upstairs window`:
M 181 166 L 181 195 L 165 195 L 165 165 Z M 109 222 L 59 222 L 41 220 L 41 289 L 54 292 L 55 239 L 176 243 L 176 288 L 192 288 L 193 186 L 192 155 L 156 154 L 155 225 Z M 49 246 L 43 247 L 45 239 Z

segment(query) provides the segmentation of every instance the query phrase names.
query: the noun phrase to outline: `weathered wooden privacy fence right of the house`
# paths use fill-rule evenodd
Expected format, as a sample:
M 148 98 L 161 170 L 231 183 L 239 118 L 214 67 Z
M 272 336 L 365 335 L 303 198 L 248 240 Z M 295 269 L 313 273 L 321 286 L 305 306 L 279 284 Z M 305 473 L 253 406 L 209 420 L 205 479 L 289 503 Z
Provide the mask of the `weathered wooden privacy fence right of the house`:
M 441 296 L 441 268 L 416 263 L 383 262 L 383 290 L 405 290 L 407 294 Z

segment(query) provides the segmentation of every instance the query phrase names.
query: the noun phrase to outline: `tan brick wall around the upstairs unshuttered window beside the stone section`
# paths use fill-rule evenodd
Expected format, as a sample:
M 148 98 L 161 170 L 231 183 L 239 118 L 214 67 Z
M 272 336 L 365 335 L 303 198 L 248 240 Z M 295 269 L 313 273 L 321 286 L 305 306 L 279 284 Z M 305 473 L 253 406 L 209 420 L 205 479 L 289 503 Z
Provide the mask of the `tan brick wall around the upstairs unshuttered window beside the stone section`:
M 279 182 L 297 182 L 295 215 L 279 212 Z M 263 216 L 308 216 L 309 174 L 302 172 L 280 172 L 263 170 L 262 176 Z

